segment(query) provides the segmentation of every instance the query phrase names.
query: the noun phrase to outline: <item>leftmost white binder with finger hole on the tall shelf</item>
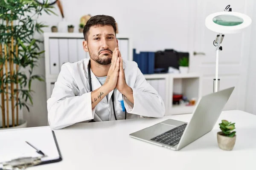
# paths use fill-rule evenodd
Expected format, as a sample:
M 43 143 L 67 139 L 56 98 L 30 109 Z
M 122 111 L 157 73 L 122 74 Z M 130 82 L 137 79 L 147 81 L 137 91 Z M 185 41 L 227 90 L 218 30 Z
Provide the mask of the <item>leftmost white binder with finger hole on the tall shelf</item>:
M 50 59 L 50 74 L 59 74 L 59 47 L 58 39 L 49 39 L 49 59 Z

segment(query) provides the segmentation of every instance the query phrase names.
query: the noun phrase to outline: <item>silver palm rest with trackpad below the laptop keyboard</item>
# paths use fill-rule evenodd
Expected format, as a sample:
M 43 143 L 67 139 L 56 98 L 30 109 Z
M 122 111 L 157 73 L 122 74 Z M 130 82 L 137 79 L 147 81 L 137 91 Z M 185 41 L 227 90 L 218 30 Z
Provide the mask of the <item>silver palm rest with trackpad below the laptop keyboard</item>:
M 139 130 L 135 133 L 131 133 L 131 136 L 135 136 L 137 138 L 142 138 L 142 139 L 152 139 L 162 133 L 167 132 L 168 130 L 171 130 L 173 128 L 175 128 L 176 126 L 172 126 L 172 125 L 166 125 L 166 124 L 162 124 L 162 123 L 158 123 L 156 125 L 153 125 L 151 127 L 145 128 L 143 130 Z

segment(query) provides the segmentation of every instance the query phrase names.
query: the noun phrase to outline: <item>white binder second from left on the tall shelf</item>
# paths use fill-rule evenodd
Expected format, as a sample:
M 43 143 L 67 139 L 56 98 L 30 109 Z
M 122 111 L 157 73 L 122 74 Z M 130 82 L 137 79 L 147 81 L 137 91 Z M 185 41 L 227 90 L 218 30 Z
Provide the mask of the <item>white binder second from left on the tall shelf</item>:
M 60 63 L 59 63 L 59 69 L 61 70 L 61 65 L 68 62 L 68 42 L 66 38 L 60 38 L 58 40 L 59 44 L 59 53 L 60 53 Z

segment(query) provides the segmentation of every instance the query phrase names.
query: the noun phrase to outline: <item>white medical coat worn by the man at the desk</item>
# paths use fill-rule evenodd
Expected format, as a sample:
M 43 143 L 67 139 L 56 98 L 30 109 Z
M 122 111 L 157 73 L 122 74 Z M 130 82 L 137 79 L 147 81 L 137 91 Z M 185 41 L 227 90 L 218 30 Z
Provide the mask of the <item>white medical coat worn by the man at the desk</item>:
M 61 71 L 51 97 L 47 100 L 48 121 L 52 129 L 61 129 L 77 122 L 96 122 L 115 120 L 111 95 L 114 93 L 116 119 L 125 119 L 120 98 L 122 94 L 114 89 L 92 109 L 91 92 L 88 79 L 88 62 L 83 59 L 78 62 L 67 62 L 61 66 Z M 123 96 L 127 111 L 126 119 L 140 116 L 161 118 L 165 113 L 163 99 L 157 91 L 145 80 L 136 62 L 123 60 L 125 79 L 133 90 L 134 104 Z M 92 90 L 101 86 L 99 80 L 91 72 Z

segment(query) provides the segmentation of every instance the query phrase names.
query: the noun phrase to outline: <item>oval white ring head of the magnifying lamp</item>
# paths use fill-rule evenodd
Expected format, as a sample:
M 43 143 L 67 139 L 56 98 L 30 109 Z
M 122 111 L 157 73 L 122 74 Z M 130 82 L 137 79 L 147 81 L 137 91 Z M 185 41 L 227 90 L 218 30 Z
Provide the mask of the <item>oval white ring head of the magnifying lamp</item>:
M 252 23 L 250 17 L 239 12 L 223 11 L 210 14 L 205 19 L 205 26 L 216 33 L 235 34 Z

